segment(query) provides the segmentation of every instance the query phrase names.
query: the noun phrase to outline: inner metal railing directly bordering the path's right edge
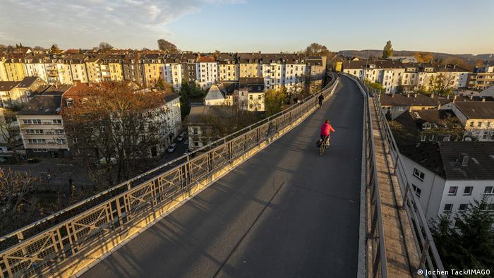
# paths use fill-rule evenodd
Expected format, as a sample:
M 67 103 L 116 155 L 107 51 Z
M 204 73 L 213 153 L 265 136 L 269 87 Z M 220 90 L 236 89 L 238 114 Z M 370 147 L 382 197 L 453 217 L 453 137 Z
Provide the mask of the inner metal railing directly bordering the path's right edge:
M 349 75 L 346 75 L 349 76 Z M 349 76 L 349 78 L 356 80 L 359 86 L 366 96 L 363 97 L 363 113 L 364 113 L 364 126 L 366 128 L 366 187 L 368 188 L 368 207 L 370 209 L 370 231 L 367 234 L 367 238 L 370 239 L 371 247 L 370 254 L 370 266 L 368 269 L 372 270 L 372 273 L 368 273 L 368 277 L 387 277 L 387 258 L 386 248 L 384 241 L 384 226 L 382 224 L 382 212 L 381 212 L 381 200 L 379 194 L 379 181 L 378 172 L 375 159 L 375 143 L 373 136 L 373 123 L 372 116 L 370 114 L 370 105 L 368 98 L 370 95 L 366 90 L 366 86 L 357 78 Z M 366 212 L 368 213 L 368 212 Z M 368 216 L 368 215 L 367 215 Z M 370 276 L 371 274 L 371 276 Z

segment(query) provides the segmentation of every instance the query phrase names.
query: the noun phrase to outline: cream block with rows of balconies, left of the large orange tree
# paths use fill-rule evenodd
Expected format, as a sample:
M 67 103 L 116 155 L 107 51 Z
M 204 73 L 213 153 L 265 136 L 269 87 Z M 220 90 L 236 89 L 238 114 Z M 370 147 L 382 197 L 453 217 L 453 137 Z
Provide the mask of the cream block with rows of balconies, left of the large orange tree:
M 62 95 L 71 86 L 49 87 L 33 97 L 18 112 L 17 121 L 26 155 L 66 157 L 70 155 L 60 114 Z

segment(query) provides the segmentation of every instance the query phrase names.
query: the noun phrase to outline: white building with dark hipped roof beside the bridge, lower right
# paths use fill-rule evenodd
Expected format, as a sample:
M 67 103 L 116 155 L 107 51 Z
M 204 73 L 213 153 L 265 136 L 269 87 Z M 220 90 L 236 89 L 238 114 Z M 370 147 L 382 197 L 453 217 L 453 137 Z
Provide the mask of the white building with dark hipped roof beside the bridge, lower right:
M 464 212 L 483 194 L 494 212 L 494 142 L 434 142 L 400 147 L 427 219 Z

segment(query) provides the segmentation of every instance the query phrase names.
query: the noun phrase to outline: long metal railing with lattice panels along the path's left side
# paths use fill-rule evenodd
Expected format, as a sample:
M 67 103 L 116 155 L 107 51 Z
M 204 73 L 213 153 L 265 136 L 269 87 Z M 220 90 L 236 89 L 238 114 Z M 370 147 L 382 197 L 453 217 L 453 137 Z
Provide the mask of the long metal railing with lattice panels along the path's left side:
M 294 123 L 300 123 L 317 109 L 318 94 L 323 93 L 327 100 L 336 85 L 335 76 L 317 94 L 196 150 L 195 157 L 191 154 L 175 159 L 2 237 L 7 247 L 0 252 L 0 278 L 55 275 L 97 246 L 125 240 L 136 223 L 168 210 L 181 196 L 191 195 L 193 189 L 204 187 L 222 176 L 225 169 L 248 159 L 254 147 L 267 145 Z M 166 171 L 158 171 L 163 169 Z M 150 174 L 155 176 L 149 178 Z M 104 201 L 97 202 L 102 196 L 106 196 Z M 82 208 L 85 210 L 78 212 Z M 62 215 L 71 217 L 58 221 Z M 36 233 L 31 236 L 32 231 Z

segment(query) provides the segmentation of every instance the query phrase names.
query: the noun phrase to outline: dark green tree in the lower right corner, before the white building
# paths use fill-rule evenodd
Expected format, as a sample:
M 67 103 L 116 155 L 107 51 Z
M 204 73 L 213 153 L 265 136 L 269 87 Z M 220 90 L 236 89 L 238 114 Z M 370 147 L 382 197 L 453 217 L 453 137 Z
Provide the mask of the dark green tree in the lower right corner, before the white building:
M 494 262 L 494 214 L 490 198 L 467 205 L 464 212 L 442 214 L 430 222 L 430 231 L 445 269 L 488 269 Z M 454 277 L 454 276 L 452 276 Z

